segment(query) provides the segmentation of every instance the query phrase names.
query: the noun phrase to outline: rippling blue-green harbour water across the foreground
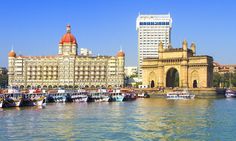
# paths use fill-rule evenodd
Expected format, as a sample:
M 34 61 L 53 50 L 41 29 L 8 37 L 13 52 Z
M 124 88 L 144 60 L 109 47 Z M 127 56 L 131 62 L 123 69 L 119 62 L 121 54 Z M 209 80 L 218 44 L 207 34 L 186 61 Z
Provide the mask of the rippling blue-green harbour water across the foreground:
M 138 99 L 0 109 L 0 140 L 233 140 L 235 107 L 234 99 Z

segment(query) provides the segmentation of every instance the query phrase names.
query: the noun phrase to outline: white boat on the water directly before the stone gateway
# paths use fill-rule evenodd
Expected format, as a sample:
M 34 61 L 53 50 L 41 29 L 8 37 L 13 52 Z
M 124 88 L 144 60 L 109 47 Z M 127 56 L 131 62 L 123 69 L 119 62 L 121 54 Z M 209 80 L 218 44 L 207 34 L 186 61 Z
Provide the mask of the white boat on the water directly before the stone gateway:
M 183 90 L 183 91 L 174 91 L 174 92 L 169 92 L 166 95 L 167 99 L 194 99 L 195 95 L 189 93 L 188 90 Z

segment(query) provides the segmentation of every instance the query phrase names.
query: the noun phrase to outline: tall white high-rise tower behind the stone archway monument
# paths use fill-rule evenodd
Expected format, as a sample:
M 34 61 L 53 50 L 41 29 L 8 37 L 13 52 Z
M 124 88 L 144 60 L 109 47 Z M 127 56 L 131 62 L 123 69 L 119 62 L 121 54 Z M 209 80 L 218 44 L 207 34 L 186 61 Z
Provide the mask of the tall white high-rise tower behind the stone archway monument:
M 136 21 L 138 31 L 138 75 L 142 78 L 140 68 L 143 58 L 158 57 L 158 44 L 170 47 L 172 18 L 165 15 L 139 15 Z

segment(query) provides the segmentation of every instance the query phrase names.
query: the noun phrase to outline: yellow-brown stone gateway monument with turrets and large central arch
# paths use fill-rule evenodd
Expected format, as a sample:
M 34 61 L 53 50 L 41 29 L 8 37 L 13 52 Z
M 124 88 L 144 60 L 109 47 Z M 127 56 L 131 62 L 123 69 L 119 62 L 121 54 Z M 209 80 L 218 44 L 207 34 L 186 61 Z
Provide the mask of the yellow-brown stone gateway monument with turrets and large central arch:
M 143 85 L 149 87 L 209 88 L 213 83 L 213 58 L 196 55 L 196 45 L 188 48 L 183 41 L 182 48 L 163 48 L 158 45 L 157 58 L 143 61 Z

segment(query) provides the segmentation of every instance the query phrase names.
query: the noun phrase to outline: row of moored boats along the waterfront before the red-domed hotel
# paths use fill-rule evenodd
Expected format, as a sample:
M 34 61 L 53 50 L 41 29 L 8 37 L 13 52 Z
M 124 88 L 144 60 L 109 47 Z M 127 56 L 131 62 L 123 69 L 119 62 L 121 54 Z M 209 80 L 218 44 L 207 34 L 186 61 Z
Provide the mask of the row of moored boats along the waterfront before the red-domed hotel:
M 20 106 L 46 106 L 50 102 L 122 102 L 135 100 L 134 93 L 120 91 L 58 91 L 56 93 L 0 94 L 0 108 Z

